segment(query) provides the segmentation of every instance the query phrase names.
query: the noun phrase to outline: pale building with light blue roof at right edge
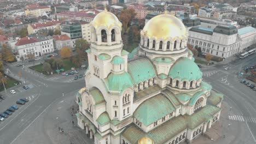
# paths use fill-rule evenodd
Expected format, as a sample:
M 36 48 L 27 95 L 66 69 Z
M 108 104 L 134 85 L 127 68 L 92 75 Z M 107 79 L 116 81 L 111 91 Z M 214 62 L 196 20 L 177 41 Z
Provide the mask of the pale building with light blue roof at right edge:
M 241 39 L 240 52 L 256 44 L 256 29 L 249 26 L 237 29 L 238 37 Z

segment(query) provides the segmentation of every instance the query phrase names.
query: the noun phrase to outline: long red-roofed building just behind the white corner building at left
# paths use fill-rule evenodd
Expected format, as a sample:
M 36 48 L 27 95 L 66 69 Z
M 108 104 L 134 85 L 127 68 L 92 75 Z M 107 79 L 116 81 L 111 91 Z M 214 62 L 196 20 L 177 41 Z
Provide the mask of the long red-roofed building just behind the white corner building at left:
M 43 23 L 34 23 L 27 26 L 28 34 L 37 33 L 40 31 L 49 31 L 50 29 L 60 31 L 61 21 L 47 21 Z

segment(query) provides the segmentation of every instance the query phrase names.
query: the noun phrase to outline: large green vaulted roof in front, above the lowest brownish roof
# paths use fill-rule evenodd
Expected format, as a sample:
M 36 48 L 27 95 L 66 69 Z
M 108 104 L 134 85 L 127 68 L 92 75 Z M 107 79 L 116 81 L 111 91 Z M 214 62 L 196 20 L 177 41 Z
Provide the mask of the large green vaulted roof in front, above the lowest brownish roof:
M 170 100 L 165 95 L 158 94 L 139 105 L 133 116 L 148 126 L 174 110 Z

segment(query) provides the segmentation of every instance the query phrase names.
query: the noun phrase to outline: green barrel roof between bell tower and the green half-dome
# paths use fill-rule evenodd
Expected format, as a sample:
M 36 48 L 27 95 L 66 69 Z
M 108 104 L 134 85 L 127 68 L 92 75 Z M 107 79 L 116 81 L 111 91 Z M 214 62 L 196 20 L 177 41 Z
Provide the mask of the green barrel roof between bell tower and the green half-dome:
M 137 84 L 154 78 L 157 74 L 154 65 L 146 57 L 128 62 L 128 73 Z

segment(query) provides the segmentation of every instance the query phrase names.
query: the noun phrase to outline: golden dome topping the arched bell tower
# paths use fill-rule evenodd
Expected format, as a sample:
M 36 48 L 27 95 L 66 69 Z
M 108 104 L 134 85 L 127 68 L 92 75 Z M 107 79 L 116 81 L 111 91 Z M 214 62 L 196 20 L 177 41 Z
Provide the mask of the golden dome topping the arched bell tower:
M 121 30 L 122 24 L 118 20 L 117 16 L 108 12 L 107 10 L 98 13 L 94 20 L 92 20 L 91 25 L 94 26 L 96 29 L 100 26 L 112 28 L 113 26 L 118 26 Z

